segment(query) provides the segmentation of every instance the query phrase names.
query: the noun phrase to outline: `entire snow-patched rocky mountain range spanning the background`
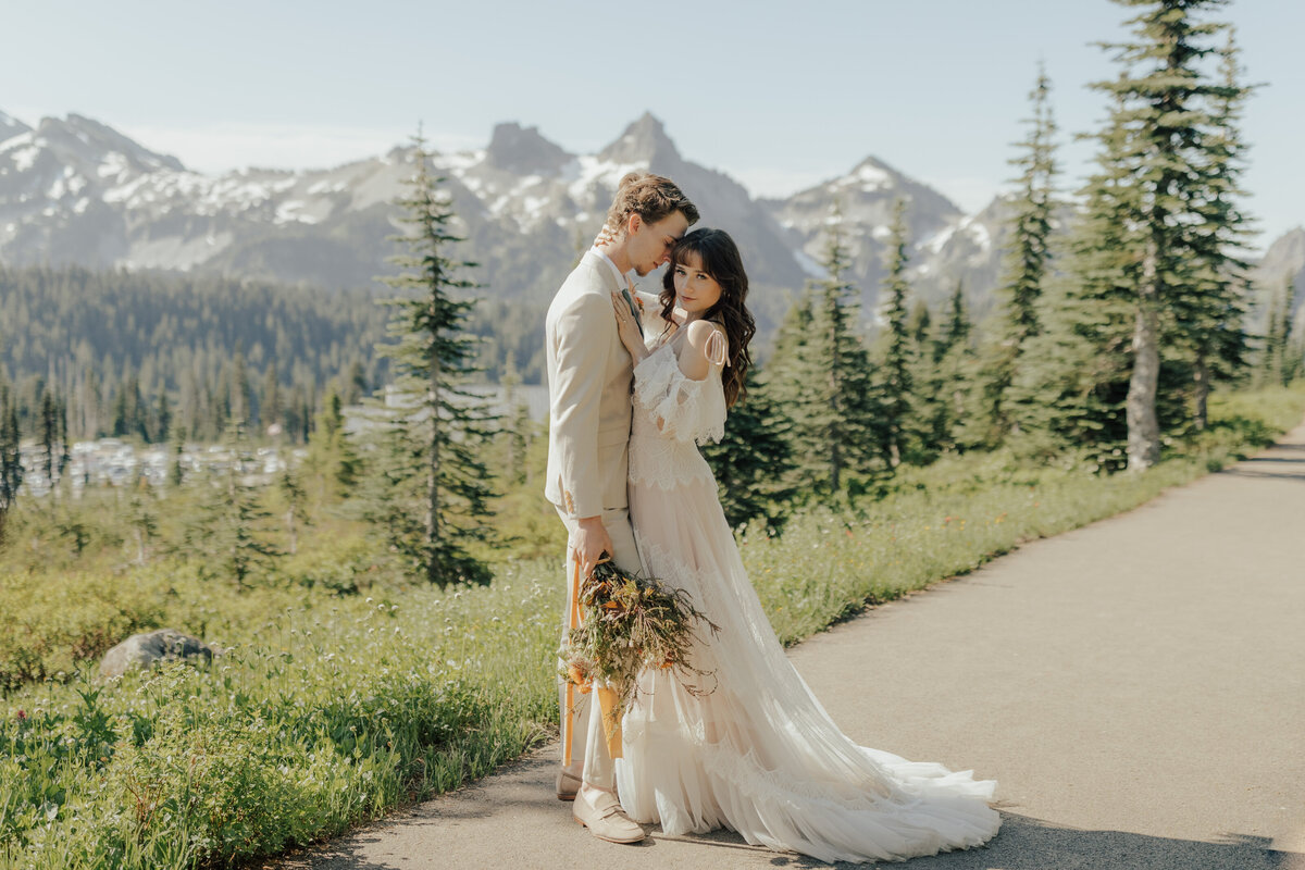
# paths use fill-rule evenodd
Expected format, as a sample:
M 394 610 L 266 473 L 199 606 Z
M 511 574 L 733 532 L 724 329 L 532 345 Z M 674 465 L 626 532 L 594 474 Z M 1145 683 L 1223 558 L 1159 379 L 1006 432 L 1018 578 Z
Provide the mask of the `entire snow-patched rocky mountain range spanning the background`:
M 392 202 L 411 175 L 411 160 L 412 149 L 397 146 L 325 170 L 213 176 L 87 117 L 47 117 L 31 128 L 0 112 L 0 262 L 211 270 L 328 290 L 375 287 L 376 275 L 393 269 L 386 260 L 395 253 L 388 239 L 395 232 Z M 551 297 L 600 226 L 616 183 L 632 170 L 673 177 L 702 211 L 702 226 L 735 236 L 762 334 L 804 282 L 820 277 L 835 203 L 867 312 L 878 300 L 897 197 L 908 201 L 910 277 L 919 297 L 937 305 L 963 280 L 972 313 L 981 316 L 998 280 L 1002 200 L 966 215 L 873 157 L 786 200 L 754 200 L 724 172 L 686 160 L 662 123 L 643 115 L 596 154 L 570 154 L 536 129 L 508 123 L 495 128 L 483 150 L 436 154 L 433 164 L 466 236 L 455 256 L 479 263 L 470 277 L 480 292 L 530 307 Z M 1292 274 L 1301 274 L 1305 231 L 1296 232 L 1296 241 L 1280 241 L 1283 253 L 1275 244 L 1266 263 L 1289 260 L 1297 263 Z

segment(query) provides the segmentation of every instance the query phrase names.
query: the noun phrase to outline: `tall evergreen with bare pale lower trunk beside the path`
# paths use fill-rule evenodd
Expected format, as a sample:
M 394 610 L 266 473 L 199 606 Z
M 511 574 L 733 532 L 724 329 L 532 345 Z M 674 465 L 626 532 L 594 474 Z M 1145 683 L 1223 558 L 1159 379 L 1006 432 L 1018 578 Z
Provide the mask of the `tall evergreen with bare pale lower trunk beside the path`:
M 1144 470 L 1160 458 L 1158 394 L 1165 330 L 1180 295 L 1201 282 L 1203 254 L 1210 252 L 1201 237 L 1208 214 L 1197 203 L 1211 194 L 1210 155 L 1203 147 L 1214 120 L 1211 99 L 1227 90 L 1202 81 L 1199 61 L 1216 50 L 1201 40 L 1227 25 L 1197 21 L 1197 14 L 1227 0 L 1114 1 L 1141 13 L 1129 21 L 1133 42 L 1105 46 L 1117 52 L 1124 72 L 1094 87 L 1120 100 L 1107 130 L 1112 136 L 1122 130 L 1122 147 L 1103 168 L 1133 188 L 1128 218 L 1142 236 L 1126 415 L 1128 464 Z

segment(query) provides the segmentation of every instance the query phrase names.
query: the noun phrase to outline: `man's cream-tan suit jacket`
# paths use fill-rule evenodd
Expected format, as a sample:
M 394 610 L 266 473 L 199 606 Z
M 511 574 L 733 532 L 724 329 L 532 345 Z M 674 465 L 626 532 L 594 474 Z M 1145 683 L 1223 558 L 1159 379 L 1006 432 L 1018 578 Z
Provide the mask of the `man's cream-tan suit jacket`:
M 625 510 L 634 370 L 612 314 L 616 274 L 589 250 L 548 307 L 544 496 L 572 519 Z

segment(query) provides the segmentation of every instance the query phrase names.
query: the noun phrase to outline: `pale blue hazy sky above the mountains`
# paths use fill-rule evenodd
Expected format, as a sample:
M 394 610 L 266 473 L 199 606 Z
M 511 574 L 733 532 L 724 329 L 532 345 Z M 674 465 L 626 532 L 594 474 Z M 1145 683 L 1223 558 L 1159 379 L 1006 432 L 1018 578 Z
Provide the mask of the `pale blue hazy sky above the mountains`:
M 1009 187 L 1044 64 L 1075 189 L 1128 35 L 1109 0 L 0 0 L 0 111 L 86 115 L 188 167 L 311 168 L 420 123 L 441 150 L 500 121 L 595 151 L 645 111 L 686 159 L 786 196 L 868 155 L 967 211 Z M 1267 245 L 1305 223 L 1305 3 L 1233 0 Z

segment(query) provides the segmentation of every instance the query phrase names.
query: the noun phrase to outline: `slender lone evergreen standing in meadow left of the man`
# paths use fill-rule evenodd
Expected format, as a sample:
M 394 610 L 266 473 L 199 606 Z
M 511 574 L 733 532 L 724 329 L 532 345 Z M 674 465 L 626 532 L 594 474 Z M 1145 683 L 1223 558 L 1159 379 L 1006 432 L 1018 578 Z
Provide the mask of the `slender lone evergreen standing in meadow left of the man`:
M 385 300 L 393 308 L 389 333 L 398 340 L 378 350 L 393 363 L 399 404 L 393 412 L 394 449 L 402 453 L 405 442 L 410 443 L 418 451 L 419 472 L 395 463 L 412 476 L 393 485 L 415 485 L 420 492 L 422 537 L 406 554 L 425 578 L 440 587 L 459 580 L 487 583 L 488 567 L 468 556 L 467 545 L 492 533 L 487 520 L 493 490 L 479 450 L 493 436 L 493 416 L 484 398 L 463 386 L 476 370 L 475 339 L 463 331 L 475 300 L 454 296 L 475 287 L 457 277 L 474 263 L 448 256 L 449 247 L 462 241 L 453 235 L 453 209 L 437 189 L 442 179 L 429 172 L 431 154 L 420 133 L 414 146 L 415 175 L 408 193 L 397 200 L 412 232 L 395 240 L 408 253 L 393 258 L 403 271 L 384 279 L 410 295 Z

